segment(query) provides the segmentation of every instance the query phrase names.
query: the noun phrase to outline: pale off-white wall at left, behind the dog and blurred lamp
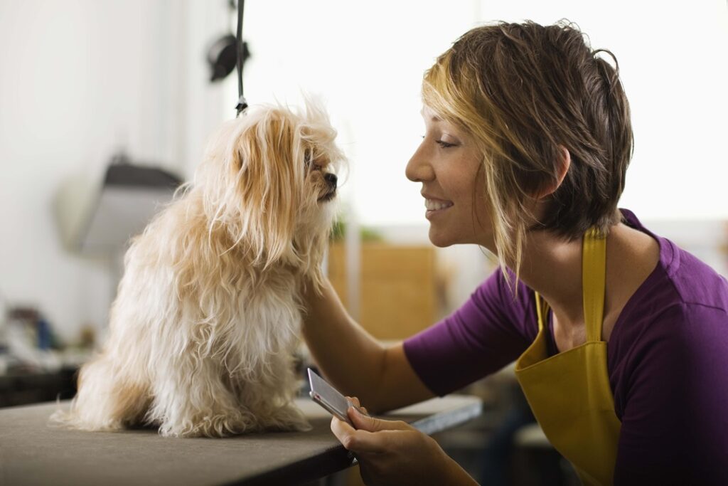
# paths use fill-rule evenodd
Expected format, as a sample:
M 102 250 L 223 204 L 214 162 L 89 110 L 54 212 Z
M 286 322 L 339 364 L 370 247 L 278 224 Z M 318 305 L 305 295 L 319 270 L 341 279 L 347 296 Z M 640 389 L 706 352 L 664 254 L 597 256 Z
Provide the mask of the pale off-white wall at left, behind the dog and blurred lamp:
M 0 296 L 34 305 L 60 337 L 103 326 L 111 262 L 68 254 L 52 205 L 59 184 L 133 160 L 185 174 L 223 117 L 205 47 L 223 2 L 0 1 Z M 220 8 L 223 7 L 223 8 Z

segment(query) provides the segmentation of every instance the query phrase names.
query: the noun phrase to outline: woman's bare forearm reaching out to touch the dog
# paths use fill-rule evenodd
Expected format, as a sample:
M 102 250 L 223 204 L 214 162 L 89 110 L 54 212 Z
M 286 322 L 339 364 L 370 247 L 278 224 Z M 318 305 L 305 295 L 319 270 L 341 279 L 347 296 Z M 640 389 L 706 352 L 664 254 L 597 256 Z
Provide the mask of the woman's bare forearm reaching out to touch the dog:
M 322 294 L 306 286 L 304 339 L 326 378 L 373 412 L 432 398 L 412 369 L 401 343 L 381 345 L 344 309 L 327 280 Z

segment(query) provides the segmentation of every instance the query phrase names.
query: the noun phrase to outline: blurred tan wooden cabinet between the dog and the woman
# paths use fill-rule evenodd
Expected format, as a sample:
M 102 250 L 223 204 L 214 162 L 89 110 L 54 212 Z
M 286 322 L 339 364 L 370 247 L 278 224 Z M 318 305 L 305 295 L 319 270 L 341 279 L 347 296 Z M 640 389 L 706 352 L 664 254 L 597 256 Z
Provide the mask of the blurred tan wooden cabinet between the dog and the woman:
M 329 279 L 347 305 L 343 243 L 333 243 Z M 362 243 L 359 324 L 380 340 L 402 340 L 438 318 L 435 248 Z

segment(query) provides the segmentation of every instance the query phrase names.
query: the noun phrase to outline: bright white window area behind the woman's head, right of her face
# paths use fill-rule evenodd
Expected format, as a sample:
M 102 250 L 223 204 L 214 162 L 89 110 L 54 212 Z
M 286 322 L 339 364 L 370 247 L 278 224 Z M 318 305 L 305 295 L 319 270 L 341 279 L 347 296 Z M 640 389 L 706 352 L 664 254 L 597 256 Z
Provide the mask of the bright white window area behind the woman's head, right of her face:
M 567 17 L 617 56 L 635 133 L 622 207 L 641 219 L 728 218 L 725 0 L 483 0 L 481 16 Z

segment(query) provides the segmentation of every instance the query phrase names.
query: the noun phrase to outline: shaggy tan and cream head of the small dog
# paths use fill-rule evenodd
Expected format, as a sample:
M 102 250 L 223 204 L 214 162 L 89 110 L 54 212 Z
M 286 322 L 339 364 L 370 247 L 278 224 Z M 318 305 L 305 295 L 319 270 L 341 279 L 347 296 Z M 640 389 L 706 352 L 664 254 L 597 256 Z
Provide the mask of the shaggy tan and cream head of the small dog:
M 226 122 L 195 176 L 210 228 L 224 227 L 256 264 L 316 272 L 344 162 L 334 138 L 325 111 L 312 102 L 300 114 L 252 107 Z

